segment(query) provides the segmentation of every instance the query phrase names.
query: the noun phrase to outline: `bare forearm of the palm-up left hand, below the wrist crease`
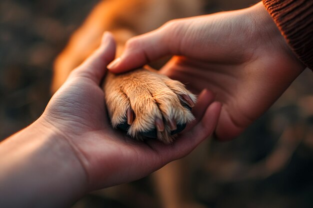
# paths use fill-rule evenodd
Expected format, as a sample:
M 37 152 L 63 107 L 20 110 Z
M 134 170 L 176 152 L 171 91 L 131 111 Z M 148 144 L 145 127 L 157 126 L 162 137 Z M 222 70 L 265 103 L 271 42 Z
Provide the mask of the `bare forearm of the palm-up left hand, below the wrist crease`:
M 0 207 L 59 208 L 82 195 L 85 174 L 68 147 L 39 122 L 0 143 Z

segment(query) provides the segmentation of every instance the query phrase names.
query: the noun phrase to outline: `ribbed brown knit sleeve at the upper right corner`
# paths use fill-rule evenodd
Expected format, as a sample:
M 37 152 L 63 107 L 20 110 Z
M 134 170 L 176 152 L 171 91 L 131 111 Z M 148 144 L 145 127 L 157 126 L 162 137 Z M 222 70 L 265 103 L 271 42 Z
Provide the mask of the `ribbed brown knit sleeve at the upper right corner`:
M 298 58 L 313 69 L 313 0 L 263 0 Z

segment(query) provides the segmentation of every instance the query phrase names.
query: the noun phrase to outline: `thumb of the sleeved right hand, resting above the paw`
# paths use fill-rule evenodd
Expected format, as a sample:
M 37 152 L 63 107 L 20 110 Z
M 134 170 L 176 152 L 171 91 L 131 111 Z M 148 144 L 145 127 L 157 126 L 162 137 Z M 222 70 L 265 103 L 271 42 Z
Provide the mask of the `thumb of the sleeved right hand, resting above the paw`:
M 177 23 L 173 21 L 154 31 L 130 38 L 125 44 L 122 55 L 112 61 L 107 68 L 113 73 L 120 73 L 143 66 L 166 55 L 180 55 L 181 35 L 172 32 L 174 28 L 177 28 L 176 25 Z

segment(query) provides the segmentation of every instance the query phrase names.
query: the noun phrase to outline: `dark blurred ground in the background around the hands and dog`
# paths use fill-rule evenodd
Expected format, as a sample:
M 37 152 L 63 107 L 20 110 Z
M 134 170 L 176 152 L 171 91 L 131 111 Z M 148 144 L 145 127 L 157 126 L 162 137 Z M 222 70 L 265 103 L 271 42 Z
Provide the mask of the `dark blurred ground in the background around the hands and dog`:
M 257 0 L 206 0 L 206 13 Z M 53 60 L 98 0 L 0 1 L 0 141 L 36 120 Z M 313 207 L 313 73 L 306 69 L 239 138 L 210 141 L 188 177 L 207 208 Z M 150 177 L 94 192 L 72 208 L 157 208 Z

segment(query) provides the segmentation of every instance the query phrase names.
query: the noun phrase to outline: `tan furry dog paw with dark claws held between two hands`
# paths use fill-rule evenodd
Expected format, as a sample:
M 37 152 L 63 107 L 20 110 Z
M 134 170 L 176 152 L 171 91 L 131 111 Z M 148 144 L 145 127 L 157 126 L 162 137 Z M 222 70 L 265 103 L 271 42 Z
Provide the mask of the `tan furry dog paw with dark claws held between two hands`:
M 132 138 L 156 138 L 168 144 L 194 119 L 195 96 L 182 83 L 151 70 L 109 73 L 103 89 L 113 128 Z

